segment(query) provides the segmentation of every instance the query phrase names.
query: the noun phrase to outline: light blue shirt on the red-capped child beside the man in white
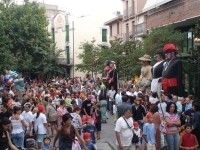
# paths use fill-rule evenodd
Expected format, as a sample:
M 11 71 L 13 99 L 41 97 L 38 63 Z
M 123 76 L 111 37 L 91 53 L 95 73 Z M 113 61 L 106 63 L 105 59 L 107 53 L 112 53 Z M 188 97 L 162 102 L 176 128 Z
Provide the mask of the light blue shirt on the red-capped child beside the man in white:
M 153 123 L 145 123 L 143 127 L 143 135 L 146 135 L 147 140 L 151 144 L 156 144 L 155 140 L 155 134 L 156 134 L 156 127 Z

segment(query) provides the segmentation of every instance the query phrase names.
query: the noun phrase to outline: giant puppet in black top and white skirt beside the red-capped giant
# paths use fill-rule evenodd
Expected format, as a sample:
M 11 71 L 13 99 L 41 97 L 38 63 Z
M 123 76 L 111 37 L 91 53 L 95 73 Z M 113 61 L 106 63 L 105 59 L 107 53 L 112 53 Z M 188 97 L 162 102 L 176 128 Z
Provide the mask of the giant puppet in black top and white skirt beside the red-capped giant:
M 165 54 L 163 52 L 163 48 L 156 50 L 155 58 L 157 63 L 152 67 L 152 75 L 153 79 L 151 82 L 151 92 L 157 93 L 158 97 L 161 97 L 161 89 L 162 89 L 162 71 L 163 71 L 163 63 L 165 62 Z

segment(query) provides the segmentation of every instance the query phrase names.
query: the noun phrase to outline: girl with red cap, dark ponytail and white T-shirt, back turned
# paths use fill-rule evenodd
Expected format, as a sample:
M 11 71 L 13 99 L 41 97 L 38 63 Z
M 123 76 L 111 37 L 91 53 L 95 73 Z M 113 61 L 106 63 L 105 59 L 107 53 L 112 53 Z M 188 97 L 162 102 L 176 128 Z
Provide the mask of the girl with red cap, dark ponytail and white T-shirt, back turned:
M 38 112 L 34 114 L 33 121 L 34 121 L 34 131 L 37 134 L 37 144 L 38 149 L 41 149 L 42 142 L 45 134 L 49 134 L 48 125 L 47 125 L 47 118 L 42 113 L 44 111 L 44 106 L 38 106 Z

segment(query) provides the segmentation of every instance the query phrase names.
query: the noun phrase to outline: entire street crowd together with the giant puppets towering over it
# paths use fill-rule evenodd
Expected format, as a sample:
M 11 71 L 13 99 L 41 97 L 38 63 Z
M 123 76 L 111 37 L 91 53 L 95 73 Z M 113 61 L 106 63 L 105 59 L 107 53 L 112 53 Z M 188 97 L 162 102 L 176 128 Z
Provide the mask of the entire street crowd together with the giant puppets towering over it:
M 139 58 L 138 83 L 119 81 L 115 62 L 106 61 L 102 79 L 22 79 L 23 93 L 16 84 L 1 87 L 2 150 L 96 150 L 108 117 L 119 150 L 199 149 L 200 102 L 184 92 L 176 53 L 166 44 L 153 67 L 149 55 Z

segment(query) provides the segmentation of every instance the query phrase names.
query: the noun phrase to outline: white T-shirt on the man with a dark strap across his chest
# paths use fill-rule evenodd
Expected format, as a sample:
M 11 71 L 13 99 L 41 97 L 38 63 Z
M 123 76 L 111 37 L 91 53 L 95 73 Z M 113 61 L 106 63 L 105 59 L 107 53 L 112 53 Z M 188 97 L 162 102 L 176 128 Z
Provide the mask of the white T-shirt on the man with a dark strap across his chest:
M 126 119 L 126 118 L 125 118 Z M 131 128 L 128 127 L 127 123 Z M 115 131 L 120 133 L 120 140 L 123 146 L 130 146 L 132 144 L 133 137 L 133 119 L 130 117 L 129 119 L 124 120 L 123 117 L 120 117 L 115 126 Z M 119 145 L 116 140 L 116 145 Z

